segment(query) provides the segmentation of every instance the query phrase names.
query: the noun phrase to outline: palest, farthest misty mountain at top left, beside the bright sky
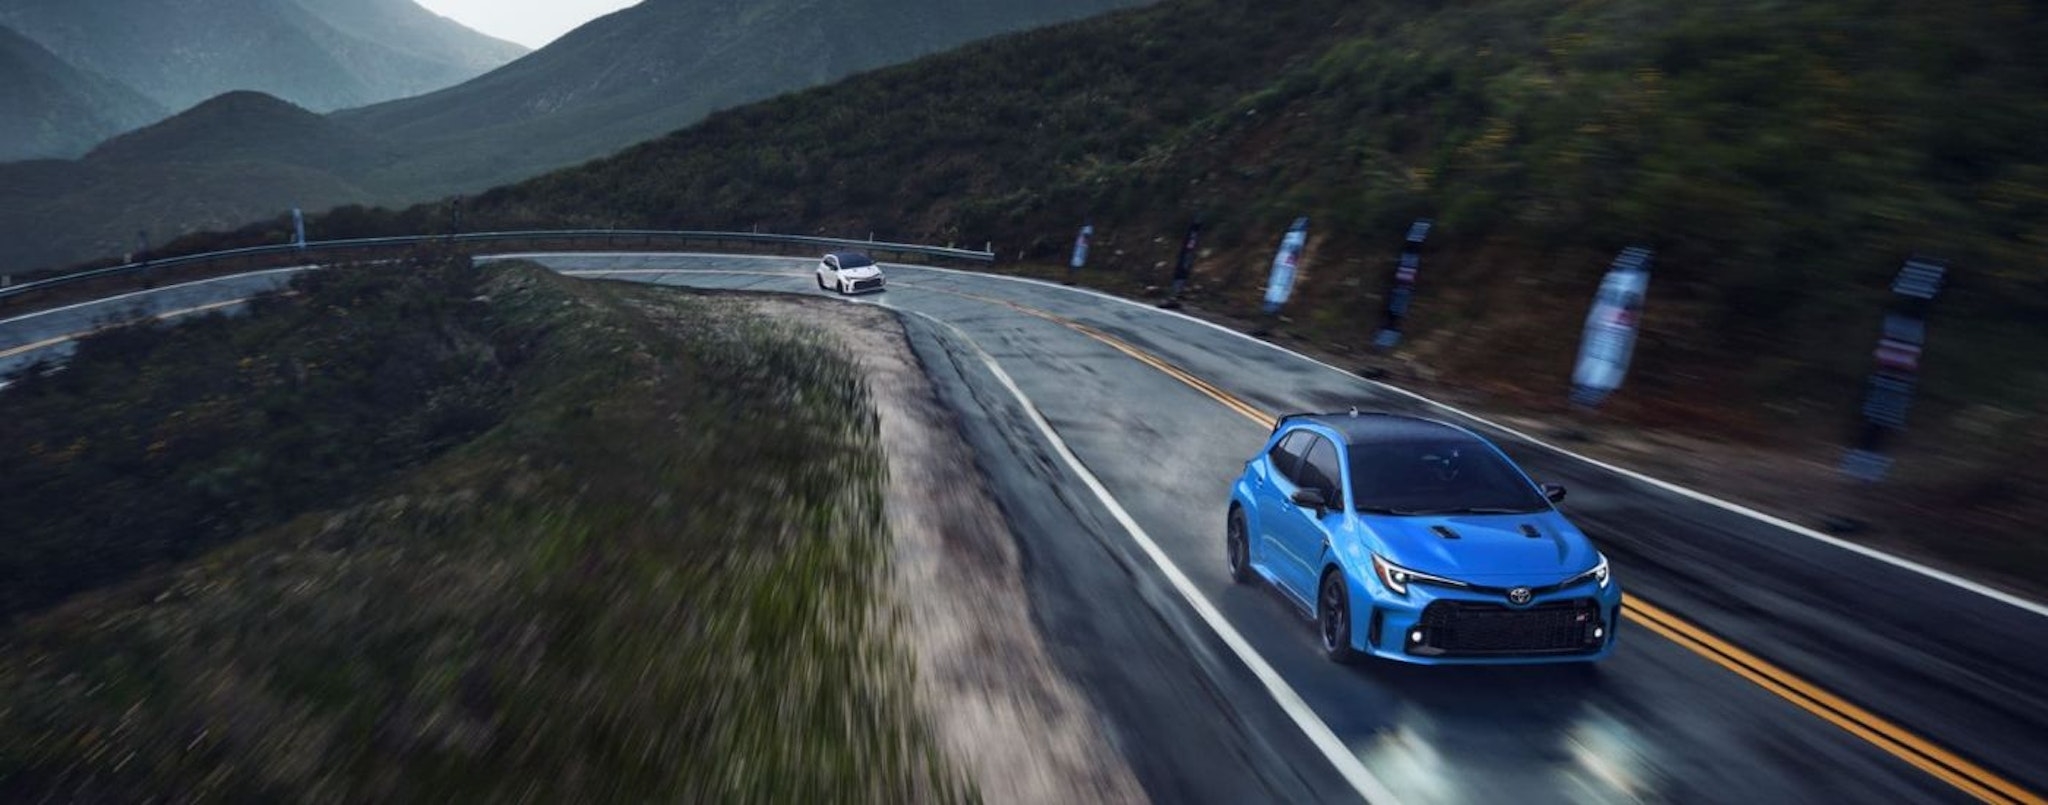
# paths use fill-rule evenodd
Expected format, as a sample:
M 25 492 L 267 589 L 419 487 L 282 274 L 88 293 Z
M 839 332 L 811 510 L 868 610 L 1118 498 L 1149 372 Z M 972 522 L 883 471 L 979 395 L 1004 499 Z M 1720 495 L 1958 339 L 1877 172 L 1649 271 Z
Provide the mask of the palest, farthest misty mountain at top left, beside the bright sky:
M 410 0 L 0 0 L 0 25 L 168 109 L 231 90 L 360 107 L 524 53 Z

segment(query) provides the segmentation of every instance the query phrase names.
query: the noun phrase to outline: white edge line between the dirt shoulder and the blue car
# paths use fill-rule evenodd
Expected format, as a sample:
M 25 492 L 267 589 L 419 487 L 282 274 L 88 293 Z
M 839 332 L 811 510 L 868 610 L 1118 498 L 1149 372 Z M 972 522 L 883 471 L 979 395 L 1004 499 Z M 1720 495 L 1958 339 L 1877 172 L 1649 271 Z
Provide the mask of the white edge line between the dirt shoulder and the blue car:
M 1300 727 L 1303 733 L 1307 733 L 1309 742 L 1323 752 L 1323 758 L 1327 758 L 1329 764 L 1337 768 L 1337 774 L 1343 774 L 1343 780 L 1350 782 L 1360 797 L 1364 797 L 1368 803 L 1384 803 L 1384 805 L 1401 803 L 1401 799 L 1395 797 L 1395 793 L 1386 789 L 1386 785 L 1380 782 L 1380 778 L 1374 776 L 1372 770 L 1368 770 L 1366 764 L 1360 762 L 1358 756 L 1352 754 L 1348 746 L 1343 746 L 1343 739 L 1339 739 L 1337 733 L 1331 731 L 1329 725 L 1323 723 L 1319 715 L 1315 715 L 1315 709 L 1311 709 L 1309 703 L 1303 701 L 1298 692 L 1294 692 L 1294 686 L 1286 684 L 1286 680 L 1280 678 L 1280 672 L 1274 670 L 1274 666 L 1268 664 L 1266 658 L 1262 658 L 1260 651 L 1253 649 L 1249 641 L 1245 641 L 1245 637 L 1237 631 L 1237 627 L 1225 621 L 1223 612 L 1217 610 L 1217 606 L 1210 604 L 1200 590 L 1196 590 L 1194 580 L 1190 580 L 1188 574 L 1182 574 L 1180 565 L 1176 565 L 1174 559 L 1169 559 L 1165 551 L 1159 547 L 1159 543 L 1155 543 L 1151 535 L 1147 535 L 1145 528 L 1139 526 L 1139 522 L 1130 516 L 1130 512 L 1126 512 L 1124 506 L 1116 502 L 1116 498 L 1110 494 L 1108 488 L 1102 485 L 1096 473 L 1087 471 L 1087 465 L 1083 465 L 1081 459 L 1073 455 L 1073 449 L 1067 447 L 1067 440 L 1059 438 L 1059 432 L 1053 430 L 1053 424 L 1047 422 L 1044 414 L 1038 412 L 1038 406 L 1034 406 L 1030 397 L 1024 395 L 1024 389 L 1020 389 L 1018 383 L 1010 379 L 1010 373 L 1006 373 L 1004 367 L 995 363 L 995 356 L 983 350 L 981 344 L 977 344 L 973 338 L 967 336 L 967 332 L 963 332 L 952 324 L 940 322 L 938 317 L 932 317 L 922 311 L 907 311 L 907 313 L 913 313 L 946 330 L 952 330 L 963 342 L 975 348 L 975 354 L 981 358 L 985 367 L 989 367 L 989 373 L 995 375 L 995 381 L 1001 383 L 1006 389 L 1010 389 L 1010 393 L 1018 399 L 1018 404 L 1024 406 L 1024 414 L 1047 438 L 1047 442 L 1053 444 L 1053 451 L 1059 453 L 1061 461 L 1065 461 L 1067 467 L 1073 469 L 1073 473 L 1081 479 L 1081 483 L 1087 485 L 1087 492 L 1096 494 L 1096 500 L 1100 500 L 1102 506 L 1108 508 L 1110 516 L 1114 516 L 1116 522 L 1124 526 L 1126 533 L 1130 533 L 1130 539 L 1141 549 L 1145 549 L 1145 555 L 1151 557 L 1155 565 L 1159 565 L 1159 571 L 1165 574 L 1167 582 L 1174 584 L 1174 590 L 1178 590 L 1182 598 L 1188 600 L 1188 606 L 1192 606 L 1194 612 L 1200 615 L 1204 623 L 1208 623 L 1208 629 L 1212 629 L 1217 637 L 1221 637 L 1223 643 L 1229 645 L 1233 653 L 1237 653 L 1237 660 L 1241 660 L 1245 668 L 1251 670 L 1251 676 L 1257 676 L 1257 680 L 1266 686 L 1266 692 L 1274 696 L 1274 703 L 1278 703 L 1280 709 L 1286 711 L 1290 719 L 1294 719 L 1294 725 Z

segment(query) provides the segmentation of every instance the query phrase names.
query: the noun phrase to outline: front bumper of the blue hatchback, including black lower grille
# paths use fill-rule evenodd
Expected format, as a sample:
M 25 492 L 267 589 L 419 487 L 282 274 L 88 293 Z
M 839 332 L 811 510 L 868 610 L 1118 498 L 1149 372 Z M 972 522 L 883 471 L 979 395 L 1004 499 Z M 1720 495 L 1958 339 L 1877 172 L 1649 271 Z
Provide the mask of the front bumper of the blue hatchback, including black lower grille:
M 1409 584 L 1405 596 L 1354 582 L 1352 645 L 1376 658 L 1413 664 L 1593 662 L 1614 653 L 1622 588 L 1597 582 L 1550 590 L 1528 604 L 1475 590 Z

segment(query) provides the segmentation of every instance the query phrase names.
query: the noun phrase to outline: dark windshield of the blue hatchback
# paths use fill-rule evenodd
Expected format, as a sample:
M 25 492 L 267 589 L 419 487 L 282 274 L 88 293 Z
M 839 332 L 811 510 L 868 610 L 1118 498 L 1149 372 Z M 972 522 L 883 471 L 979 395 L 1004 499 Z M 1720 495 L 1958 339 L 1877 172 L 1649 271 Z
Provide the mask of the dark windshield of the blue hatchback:
M 1526 514 L 1550 504 L 1499 453 L 1477 440 L 1352 447 L 1352 500 L 1376 514 Z

